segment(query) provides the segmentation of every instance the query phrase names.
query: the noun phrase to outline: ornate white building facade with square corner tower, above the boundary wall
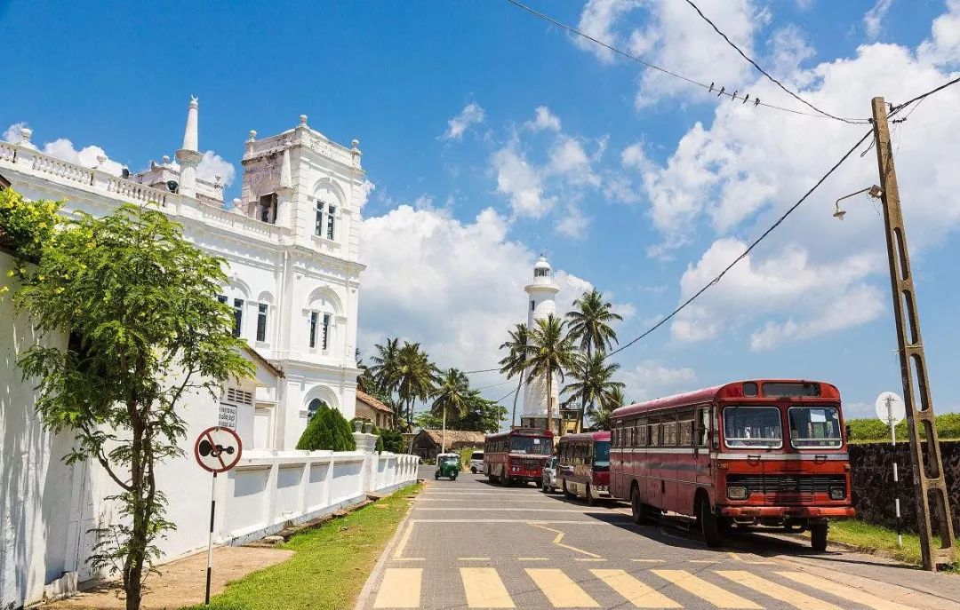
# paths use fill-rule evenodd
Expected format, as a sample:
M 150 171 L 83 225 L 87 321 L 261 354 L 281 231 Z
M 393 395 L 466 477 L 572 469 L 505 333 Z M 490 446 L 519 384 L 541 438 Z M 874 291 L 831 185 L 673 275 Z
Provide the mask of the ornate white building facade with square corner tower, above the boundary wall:
M 307 125 L 244 143 L 241 196 L 225 205 L 220 176 L 198 176 L 199 103 L 191 100 L 176 162 L 113 176 L 39 153 L 24 129 L 0 142 L 0 172 L 27 199 L 63 199 L 67 213 L 108 214 L 118 204 L 153 203 L 185 235 L 228 263 L 221 300 L 234 332 L 283 377 L 258 389 L 251 448 L 290 449 L 321 403 L 353 417 L 356 401 L 360 207 L 365 199 L 359 142 L 344 147 Z M 241 395 L 246 397 L 245 395 Z M 216 423 L 216 422 L 214 422 Z

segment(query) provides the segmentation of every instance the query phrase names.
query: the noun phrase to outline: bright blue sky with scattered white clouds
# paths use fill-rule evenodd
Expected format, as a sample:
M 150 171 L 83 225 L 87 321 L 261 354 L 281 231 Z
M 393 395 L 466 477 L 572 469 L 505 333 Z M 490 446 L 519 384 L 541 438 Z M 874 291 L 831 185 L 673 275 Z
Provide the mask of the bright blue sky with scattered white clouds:
M 802 108 L 683 0 L 530 2 L 696 80 Z M 960 67 L 956 0 L 698 4 L 831 112 L 866 116 L 874 95 L 902 101 Z M 561 271 L 562 307 L 588 282 L 627 315 L 621 337 L 636 336 L 865 130 L 735 107 L 505 0 L 0 1 L 0 33 L 0 129 L 25 122 L 38 144 L 95 145 L 137 170 L 178 147 L 191 94 L 201 100 L 202 150 L 237 170 L 249 129 L 289 129 L 300 113 L 331 139 L 358 138 L 374 185 L 361 347 L 399 335 L 468 369 L 495 364 L 507 325 L 524 319 L 522 285 L 539 251 Z M 957 96 L 931 98 L 895 131 L 938 411 L 960 410 L 960 200 L 949 180 L 960 146 L 948 137 L 960 127 Z M 618 355 L 628 397 L 807 377 L 837 384 L 851 411 L 869 412 L 878 392 L 900 391 L 876 211 L 852 199 L 844 223 L 830 218 L 833 199 L 873 182 L 874 153 L 854 154 L 744 270 Z M 228 198 L 238 187 L 234 179 Z M 476 376 L 480 386 L 500 381 Z

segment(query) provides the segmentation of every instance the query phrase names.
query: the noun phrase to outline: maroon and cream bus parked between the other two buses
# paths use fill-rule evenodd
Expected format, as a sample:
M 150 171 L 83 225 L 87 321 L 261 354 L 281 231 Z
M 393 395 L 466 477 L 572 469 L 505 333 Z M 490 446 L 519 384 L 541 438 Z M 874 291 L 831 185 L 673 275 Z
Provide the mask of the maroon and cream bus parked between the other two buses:
M 610 433 L 566 434 L 557 442 L 557 483 L 567 498 L 587 499 L 591 506 L 610 500 Z

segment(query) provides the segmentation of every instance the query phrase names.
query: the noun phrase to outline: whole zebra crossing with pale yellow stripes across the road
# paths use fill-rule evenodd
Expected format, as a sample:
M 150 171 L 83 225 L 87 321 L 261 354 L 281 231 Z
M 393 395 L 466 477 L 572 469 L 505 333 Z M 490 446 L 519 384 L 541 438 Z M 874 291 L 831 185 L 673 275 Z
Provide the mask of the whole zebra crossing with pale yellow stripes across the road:
M 913 610 L 806 572 L 773 569 L 632 570 L 438 566 L 389 567 L 373 608 L 684 608 Z M 452 575 L 451 575 L 452 574 Z M 454 576 L 455 575 L 455 576 Z M 424 578 L 431 580 L 428 587 Z M 428 592 L 428 595 L 424 595 Z

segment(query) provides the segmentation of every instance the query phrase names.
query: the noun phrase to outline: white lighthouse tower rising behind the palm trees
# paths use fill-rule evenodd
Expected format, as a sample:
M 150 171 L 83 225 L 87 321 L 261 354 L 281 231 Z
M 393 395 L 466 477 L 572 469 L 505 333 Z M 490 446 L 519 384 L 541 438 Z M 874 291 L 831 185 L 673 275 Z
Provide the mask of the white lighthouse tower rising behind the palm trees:
M 527 283 L 523 290 L 529 295 L 527 299 L 527 328 L 533 330 L 537 327 L 537 320 L 547 317 L 550 314 L 557 313 L 557 293 L 560 292 L 560 286 L 553 279 L 553 273 L 550 271 L 550 264 L 542 255 L 534 264 L 534 277 Z M 553 405 L 553 417 L 559 415 L 557 395 L 559 393 L 557 379 L 553 380 L 552 396 L 550 403 Z M 547 427 L 547 400 L 546 400 L 546 377 L 540 376 L 523 387 L 523 411 L 520 413 L 520 426 L 524 428 Z M 556 427 L 556 423 L 554 424 Z

